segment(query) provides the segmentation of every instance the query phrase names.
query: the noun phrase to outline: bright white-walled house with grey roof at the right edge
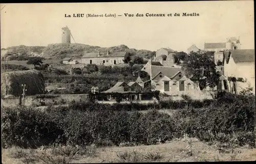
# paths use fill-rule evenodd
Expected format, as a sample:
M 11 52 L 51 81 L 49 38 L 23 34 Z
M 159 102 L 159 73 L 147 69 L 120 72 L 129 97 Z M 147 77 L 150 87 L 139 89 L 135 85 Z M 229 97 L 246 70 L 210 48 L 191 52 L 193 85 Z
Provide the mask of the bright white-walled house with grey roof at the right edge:
M 246 79 L 246 88 L 250 85 L 255 88 L 255 62 L 254 49 L 229 50 L 223 52 L 224 75 Z

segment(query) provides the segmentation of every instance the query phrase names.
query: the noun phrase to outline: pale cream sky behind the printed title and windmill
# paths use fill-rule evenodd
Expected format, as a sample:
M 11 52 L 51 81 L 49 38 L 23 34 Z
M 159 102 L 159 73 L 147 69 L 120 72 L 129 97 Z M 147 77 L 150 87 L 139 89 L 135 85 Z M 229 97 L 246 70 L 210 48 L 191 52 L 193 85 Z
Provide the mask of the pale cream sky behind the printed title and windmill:
M 100 47 L 124 44 L 152 51 L 161 47 L 185 51 L 193 44 L 203 48 L 205 42 L 239 36 L 242 49 L 254 49 L 253 6 L 253 1 L 1 4 L 1 48 L 61 43 L 61 28 L 67 25 L 76 43 Z M 116 17 L 65 17 L 77 13 Z M 125 17 L 124 13 L 144 16 Z M 166 16 L 146 17 L 146 13 Z

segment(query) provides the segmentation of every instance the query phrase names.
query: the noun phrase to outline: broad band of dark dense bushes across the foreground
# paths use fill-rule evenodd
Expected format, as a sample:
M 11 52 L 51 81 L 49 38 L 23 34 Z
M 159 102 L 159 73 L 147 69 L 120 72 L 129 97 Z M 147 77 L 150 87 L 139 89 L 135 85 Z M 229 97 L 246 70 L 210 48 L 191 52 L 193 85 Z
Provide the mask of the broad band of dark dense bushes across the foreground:
M 2 107 L 2 141 L 5 147 L 91 145 L 102 140 L 150 145 L 188 134 L 222 146 L 254 146 L 255 96 L 227 93 L 203 108 L 191 104 L 173 116 L 156 110 L 128 113 L 124 104 L 119 104 L 122 109 L 91 103 L 46 111 Z

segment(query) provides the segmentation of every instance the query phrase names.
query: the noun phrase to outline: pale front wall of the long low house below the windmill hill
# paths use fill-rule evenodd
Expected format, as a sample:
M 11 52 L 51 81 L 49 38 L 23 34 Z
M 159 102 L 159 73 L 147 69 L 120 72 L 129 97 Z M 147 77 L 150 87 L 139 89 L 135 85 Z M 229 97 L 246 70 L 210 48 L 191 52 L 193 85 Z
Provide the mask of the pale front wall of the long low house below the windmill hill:
M 106 58 L 82 58 L 82 63 L 84 64 L 90 64 L 90 60 L 92 60 L 92 64 L 97 64 L 100 65 L 103 63 L 103 60 L 105 60 L 104 65 L 114 65 L 114 60 L 116 60 L 116 64 L 122 64 L 123 62 L 123 57 L 106 57 Z M 112 63 L 111 63 L 112 61 Z

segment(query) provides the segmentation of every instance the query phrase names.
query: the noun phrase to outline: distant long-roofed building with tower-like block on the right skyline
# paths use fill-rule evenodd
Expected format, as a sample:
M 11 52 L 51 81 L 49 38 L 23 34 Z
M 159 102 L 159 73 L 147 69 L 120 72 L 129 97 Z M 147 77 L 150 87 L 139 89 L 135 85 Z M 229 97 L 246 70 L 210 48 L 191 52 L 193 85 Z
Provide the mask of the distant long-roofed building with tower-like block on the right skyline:
M 223 51 L 241 49 L 240 38 L 230 37 L 226 42 L 221 43 L 204 43 L 204 51 Z

